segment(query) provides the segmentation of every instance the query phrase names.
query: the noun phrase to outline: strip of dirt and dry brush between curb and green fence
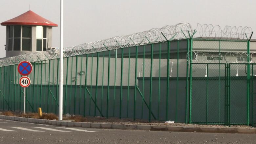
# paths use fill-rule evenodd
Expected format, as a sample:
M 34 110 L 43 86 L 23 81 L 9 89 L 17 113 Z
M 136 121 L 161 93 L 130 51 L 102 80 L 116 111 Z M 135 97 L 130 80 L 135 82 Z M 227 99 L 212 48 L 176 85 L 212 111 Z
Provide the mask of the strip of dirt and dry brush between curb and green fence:
M 57 120 L 58 117 L 53 113 L 43 113 L 40 117 L 37 113 L 26 113 L 23 114 L 21 112 L 11 112 L 11 111 L 2 111 L 0 115 L 8 115 L 8 116 L 20 116 L 20 117 L 28 117 L 28 118 L 39 118 L 39 119 L 51 119 Z M 100 116 L 81 116 L 81 115 L 70 115 L 67 117 L 63 115 L 63 120 L 66 121 L 74 121 L 74 122 L 93 122 L 93 123 L 112 123 L 112 124 L 131 124 L 131 125 L 155 125 L 155 126 L 187 126 L 187 127 L 228 127 L 224 125 L 199 125 L 199 124 L 184 124 L 184 123 L 170 123 L 167 124 L 165 121 L 147 121 L 143 119 L 133 120 L 131 118 L 117 118 L 117 117 L 100 117 Z M 252 128 L 251 126 L 246 125 L 231 125 L 232 128 Z

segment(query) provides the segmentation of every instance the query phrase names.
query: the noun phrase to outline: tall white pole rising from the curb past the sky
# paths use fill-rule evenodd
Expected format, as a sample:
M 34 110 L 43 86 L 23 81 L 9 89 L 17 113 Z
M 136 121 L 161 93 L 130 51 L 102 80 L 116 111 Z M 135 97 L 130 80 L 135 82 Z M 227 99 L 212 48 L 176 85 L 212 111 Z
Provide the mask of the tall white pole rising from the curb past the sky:
M 63 0 L 60 0 L 60 49 L 59 49 L 59 120 L 62 120 L 63 110 Z

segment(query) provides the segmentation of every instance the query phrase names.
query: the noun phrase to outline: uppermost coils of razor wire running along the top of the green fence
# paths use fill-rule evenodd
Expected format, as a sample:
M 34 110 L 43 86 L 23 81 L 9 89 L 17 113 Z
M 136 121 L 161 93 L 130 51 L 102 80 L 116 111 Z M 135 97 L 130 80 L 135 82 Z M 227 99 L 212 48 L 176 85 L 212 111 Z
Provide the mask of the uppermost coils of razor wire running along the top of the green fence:
M 249 27 L 230 27 L 221 29 L 220 26 L 200 25 L 196 28 L 196 37 L 219 39 L 244 39 L 245 33 L 251 33 Z M 84 43 L 77 46 L 66 47 L 63 50 L 63 57 L 83 55 L 100 51 L 109 51 L 119 48 L 146 45 L 151 43 L 166 42 L 167 40 L 180 40 L 190 38 L 193 29 L 189 23 L 167 25 L 162 28 L 154 28 L 149 31 L 138 32 L 130 35 L 112 37 L 91 43 Z M 194 36 L 195 37 L 195 36 Z M 0 60 L 0 67 L 18 64 L 21 61 L 38 62 L 59 58 L 59 50 L 40 51 L 9 57 Z

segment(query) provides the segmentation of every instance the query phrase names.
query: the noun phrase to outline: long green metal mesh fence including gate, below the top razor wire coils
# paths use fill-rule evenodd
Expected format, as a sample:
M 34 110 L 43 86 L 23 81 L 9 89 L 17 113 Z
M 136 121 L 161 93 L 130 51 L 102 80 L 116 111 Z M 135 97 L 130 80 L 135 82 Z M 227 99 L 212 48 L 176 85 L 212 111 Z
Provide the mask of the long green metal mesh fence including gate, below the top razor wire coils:
M 219 63 L 196 63 L 192 37 L 64 58 L 64 114 L 253 125 L 256 66 L 221 63 L 220 56 Z M 214 41 L 219 53 L 221 44 Z M 27 111 L 58 113 L 59 59 L 32 65 Z M 1 110 L 23 110 L 20 77 L 17 65 L 0 67 Z

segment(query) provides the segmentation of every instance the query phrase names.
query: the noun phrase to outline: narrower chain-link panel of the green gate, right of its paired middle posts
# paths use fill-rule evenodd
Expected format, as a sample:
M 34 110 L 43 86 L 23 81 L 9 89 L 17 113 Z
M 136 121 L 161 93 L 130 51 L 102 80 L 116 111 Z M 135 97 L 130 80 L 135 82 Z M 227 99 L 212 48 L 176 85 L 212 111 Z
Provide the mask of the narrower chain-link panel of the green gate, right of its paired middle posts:
M 230 64 L 229 119 L 230 124 L 247 124 L 249 93 L 247 93 L 247 64 Z

